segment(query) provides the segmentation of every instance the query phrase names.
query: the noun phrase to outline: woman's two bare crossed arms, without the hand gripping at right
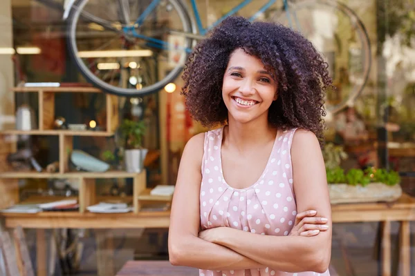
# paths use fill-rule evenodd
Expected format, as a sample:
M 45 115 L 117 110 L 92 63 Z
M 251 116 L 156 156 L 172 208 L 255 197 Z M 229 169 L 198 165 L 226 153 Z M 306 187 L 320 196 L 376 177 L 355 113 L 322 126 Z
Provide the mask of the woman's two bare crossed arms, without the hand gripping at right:
M 329 229 L 313 237 L 256 235 L 225 227 L 199 233 L 202 157 L 203 134 L 187 143 L 178 172 L 169 228 L 172 264 L 209 270 L 267 266 L 286 272 L 327 270 L 331 255 L 331 209 L 324 161 L 312 132 L 295 132 L 291 157 L 297 211 L 317 210 L 319 217 L 328 219 Z

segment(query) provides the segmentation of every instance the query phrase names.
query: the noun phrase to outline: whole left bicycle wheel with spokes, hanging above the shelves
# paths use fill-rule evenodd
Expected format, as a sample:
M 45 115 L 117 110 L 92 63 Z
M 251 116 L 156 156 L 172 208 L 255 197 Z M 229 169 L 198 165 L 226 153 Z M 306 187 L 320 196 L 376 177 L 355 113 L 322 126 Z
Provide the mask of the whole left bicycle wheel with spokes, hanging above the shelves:
M 136 97 L 178 77 L 192 45 L 185 34 L 192 30 L 178 0 L 78 0 L 68 17 L 68 48 L 86 81 Z

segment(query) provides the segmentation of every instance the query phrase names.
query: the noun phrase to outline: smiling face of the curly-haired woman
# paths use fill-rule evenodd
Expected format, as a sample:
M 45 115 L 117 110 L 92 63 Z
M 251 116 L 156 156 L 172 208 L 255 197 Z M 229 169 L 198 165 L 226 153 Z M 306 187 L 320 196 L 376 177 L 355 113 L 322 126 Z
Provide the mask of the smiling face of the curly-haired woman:
M 230 121 L 268 120 L 268 108 L 277 99 L 277 82 L 260 59 L 237 49 L 223 76 L 222 97 Z

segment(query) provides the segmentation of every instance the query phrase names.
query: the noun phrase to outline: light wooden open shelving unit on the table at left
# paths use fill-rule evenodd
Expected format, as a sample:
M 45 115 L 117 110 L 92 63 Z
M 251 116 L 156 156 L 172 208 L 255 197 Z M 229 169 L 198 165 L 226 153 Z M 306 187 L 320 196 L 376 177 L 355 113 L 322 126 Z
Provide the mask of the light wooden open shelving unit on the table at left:
M 97 204 L 102 197 L 98 197 L 95 193 L 96 183 L 95 179 L 133 179 L 133 196 L 120 197 L 113 199 L 133 201 L 133 213 L 138 213 L 140 210 L 139 197 L 141 194 L 148 195 L 146 190 L 146 172 L 143 170 L 140 173 L 130 173 L 124 171 L 107 171 L 107 172 L 72 172 L 69 170 L 69 156 L 73 150 L 74 136 L 89 136 L 89 137 L 110 137 L 118 127 L 118 98 L 113 95 L 106 94 L 106 126 L 105 130 L 94 131 L 73 131 L 73 130 L 55 130 L 53 129 L 53 122 L 55 120 L 55 95 L 57 93 L 100 93 L 101 90 L 97 88 L 80 88 L 80 87 L 61 87 L 61 88 L 14 88 L 15 93 L 37 93 L 39 114 L 37 130 L 3 130 L 0 131 L 0 143 L 7 144 L 7 146 L 0 147 L 0 209 L 8 208 L 12 205 L 22 203 L 19 198 L 19 179 L 77 179 L 79 183 L 78 202 L 80 205 L 79 213 L 82 215 L 86 212 L 86 207 Z M 14 146 L 10 145 L 11 135 L 49 135 L 57 136 L 59 139 L 59 170 L 54 173 L 50 172 L 36 172 L 36 171 L 13 171 L 7 164 L 7 156 L 13 151 Z M 54 198 L 57 200 L 56 198 Z M 48 197 L 45 197 L 48 201 Z M 71 213 L 71 212 L 65 212 Z M 6 215 L 6 214 L 3 214 Z M 10 215 L 10 214 L 8 214 Z M 12 214 L 14 215 L 14 214 Z M 100 214 L 97 214 L 100 215 Z

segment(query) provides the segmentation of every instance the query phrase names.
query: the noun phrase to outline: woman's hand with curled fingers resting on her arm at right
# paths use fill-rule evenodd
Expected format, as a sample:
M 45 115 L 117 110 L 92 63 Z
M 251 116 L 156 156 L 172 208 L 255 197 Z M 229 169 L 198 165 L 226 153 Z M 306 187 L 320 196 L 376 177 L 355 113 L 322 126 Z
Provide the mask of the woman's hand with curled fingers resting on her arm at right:
M 327 219 L 325 217 L 315 217 L 317 211 L 306 210 L 298 213 L 295 217 L 295 224 L 291 229 L 290 236 L 313 237 L 329 229 Z

